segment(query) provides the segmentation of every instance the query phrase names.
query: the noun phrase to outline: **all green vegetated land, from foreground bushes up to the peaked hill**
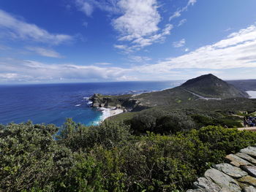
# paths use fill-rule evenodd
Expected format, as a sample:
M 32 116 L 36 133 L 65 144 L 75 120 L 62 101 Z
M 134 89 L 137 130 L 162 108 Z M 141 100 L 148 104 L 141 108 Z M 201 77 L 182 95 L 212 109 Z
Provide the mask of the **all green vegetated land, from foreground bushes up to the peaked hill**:
M 256 132 L 234 128 L 255 115 L 256 99 L 211 74 L 91 101 L 129 112 L 99 126 L 0 125 L 0 191 L 184 192 L 225 155 L 256 142 Z

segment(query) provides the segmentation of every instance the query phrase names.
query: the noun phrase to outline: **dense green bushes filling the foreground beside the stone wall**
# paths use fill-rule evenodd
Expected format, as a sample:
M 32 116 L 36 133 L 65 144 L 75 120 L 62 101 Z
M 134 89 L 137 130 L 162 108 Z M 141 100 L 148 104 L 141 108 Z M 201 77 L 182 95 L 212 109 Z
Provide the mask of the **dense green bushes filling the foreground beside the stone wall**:
M 0 127 L 0 191 L 173 191 L 256 133 L 208 126 L 175 135 L 134 136 L 123 124 Z

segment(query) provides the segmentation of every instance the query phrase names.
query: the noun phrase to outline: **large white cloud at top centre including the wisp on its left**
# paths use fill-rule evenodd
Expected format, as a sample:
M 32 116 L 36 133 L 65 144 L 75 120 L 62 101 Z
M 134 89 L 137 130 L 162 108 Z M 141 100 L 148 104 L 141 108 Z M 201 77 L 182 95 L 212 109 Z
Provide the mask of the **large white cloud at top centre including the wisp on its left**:
M 124 53 L 163 42 L 173 28 L 170 24 L 159 26 L 162 18 L 157 0 L 76 0 L 75 3 L 89 17 L 96 8 L 115 14 L 111 23 L 122 43 L 114 47 Z

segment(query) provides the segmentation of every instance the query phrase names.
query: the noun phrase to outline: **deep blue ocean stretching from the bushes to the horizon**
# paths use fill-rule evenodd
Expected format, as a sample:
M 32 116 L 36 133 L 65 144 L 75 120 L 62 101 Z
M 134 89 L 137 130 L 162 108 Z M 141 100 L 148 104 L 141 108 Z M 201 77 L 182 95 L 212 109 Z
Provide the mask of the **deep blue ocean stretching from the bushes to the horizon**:
M 102 112 L 89 107 L 94 93 L 118 95 L 173 88 L 181 81 L 90 82 L 47 85 L 0 85 L 0 123 L 53 123 L 61 126 L 66 118 L 91 125 Z

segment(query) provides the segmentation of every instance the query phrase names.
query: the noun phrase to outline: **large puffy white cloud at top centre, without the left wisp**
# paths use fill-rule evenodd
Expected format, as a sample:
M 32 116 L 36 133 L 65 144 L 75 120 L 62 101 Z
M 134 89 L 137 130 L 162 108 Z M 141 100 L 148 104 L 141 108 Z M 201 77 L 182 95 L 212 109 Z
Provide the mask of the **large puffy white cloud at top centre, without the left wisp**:
M 121 0 L 117 5 L 122 15 L 113 20 L 113 28 L 120 34 L 118 41 L 129 45 L 116 47 L 126 49 L 128 53 L 162 42 L 173 28 L 170 24 L 159 28 L 161 16 L 157 11 L 157 0 Z

